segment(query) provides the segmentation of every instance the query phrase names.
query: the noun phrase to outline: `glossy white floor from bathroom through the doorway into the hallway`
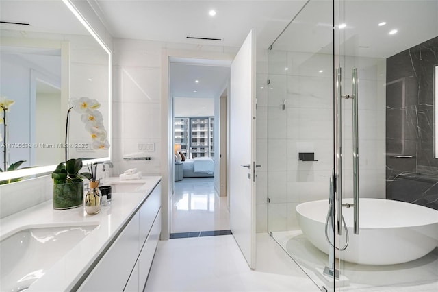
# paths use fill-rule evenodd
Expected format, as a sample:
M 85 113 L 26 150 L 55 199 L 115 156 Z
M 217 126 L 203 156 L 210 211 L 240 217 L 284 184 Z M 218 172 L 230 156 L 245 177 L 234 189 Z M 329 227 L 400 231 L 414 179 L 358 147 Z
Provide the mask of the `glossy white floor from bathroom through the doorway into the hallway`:
M 175 183 L 171 232 L 228 230 L 227 198 L 213 182 Z M 257 234 L 257 268 L 248 267 L 233 235 L 159 241 L 144 291 L 320 291 L 266 233 Z

